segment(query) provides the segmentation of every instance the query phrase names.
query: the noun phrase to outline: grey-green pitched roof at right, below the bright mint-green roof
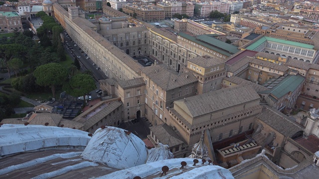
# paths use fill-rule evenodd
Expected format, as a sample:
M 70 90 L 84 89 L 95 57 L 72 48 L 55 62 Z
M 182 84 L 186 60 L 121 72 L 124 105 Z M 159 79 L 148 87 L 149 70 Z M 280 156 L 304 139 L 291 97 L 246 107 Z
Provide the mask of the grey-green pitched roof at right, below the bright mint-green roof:
M 305 78 L 299 74 L 282 76 L 278 79 L 270 79 L 263 86 L 271 89 L 261 91 L 260 93 L 273 94 L 277 98 L 280 98 L 290 91 L 295 91 L 304 80 Z

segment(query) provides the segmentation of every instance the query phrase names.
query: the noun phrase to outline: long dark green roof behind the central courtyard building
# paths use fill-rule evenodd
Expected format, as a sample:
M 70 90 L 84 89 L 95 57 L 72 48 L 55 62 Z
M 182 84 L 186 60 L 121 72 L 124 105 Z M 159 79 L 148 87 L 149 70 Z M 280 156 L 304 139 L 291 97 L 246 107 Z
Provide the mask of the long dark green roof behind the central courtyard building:
M 197 38 L 182 32 L 178 33 L 178 35 L 199 45 L 212 49 L 220 54 L 226 55 L 227 57 L 239 51 L 236 46 L 218 40 L 212 37 L 213 35 L 199 35 Z

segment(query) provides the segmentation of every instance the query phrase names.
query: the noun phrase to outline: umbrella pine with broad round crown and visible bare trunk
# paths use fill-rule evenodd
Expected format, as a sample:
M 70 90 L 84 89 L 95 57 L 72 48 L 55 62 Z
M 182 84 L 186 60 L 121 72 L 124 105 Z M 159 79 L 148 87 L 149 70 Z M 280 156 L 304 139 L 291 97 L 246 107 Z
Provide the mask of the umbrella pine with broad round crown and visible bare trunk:
M 41 65 L 33 72 L 36 84 L 42 87 L 51 87 L 53 97 L 55 97 L 55 87 L 64 84 L 67 79 L 67 70 L 58 63 Z

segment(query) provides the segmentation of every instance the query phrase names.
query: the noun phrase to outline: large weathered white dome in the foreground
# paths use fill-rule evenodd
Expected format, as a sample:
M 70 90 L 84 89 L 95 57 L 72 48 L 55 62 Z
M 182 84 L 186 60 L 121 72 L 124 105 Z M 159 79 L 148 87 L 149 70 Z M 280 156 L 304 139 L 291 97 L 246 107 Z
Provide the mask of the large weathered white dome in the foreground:
M 148 154 L 145 143 L 133 133 L 105 127 L 95 131 L 81 156 L 116 169 L 128 169 L 145 164 Z

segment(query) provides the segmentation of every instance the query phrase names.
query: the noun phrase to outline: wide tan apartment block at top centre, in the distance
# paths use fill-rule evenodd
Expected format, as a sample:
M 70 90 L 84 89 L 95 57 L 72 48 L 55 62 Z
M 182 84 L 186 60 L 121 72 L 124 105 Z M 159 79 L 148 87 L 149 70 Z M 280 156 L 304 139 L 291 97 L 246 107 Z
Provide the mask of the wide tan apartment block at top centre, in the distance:
M 152 3 L 127 3 L 123 5 L 123 12 L 137 14 L 136 18 L 145 22 L 160 21 L 165 19 L 165 10 Z

